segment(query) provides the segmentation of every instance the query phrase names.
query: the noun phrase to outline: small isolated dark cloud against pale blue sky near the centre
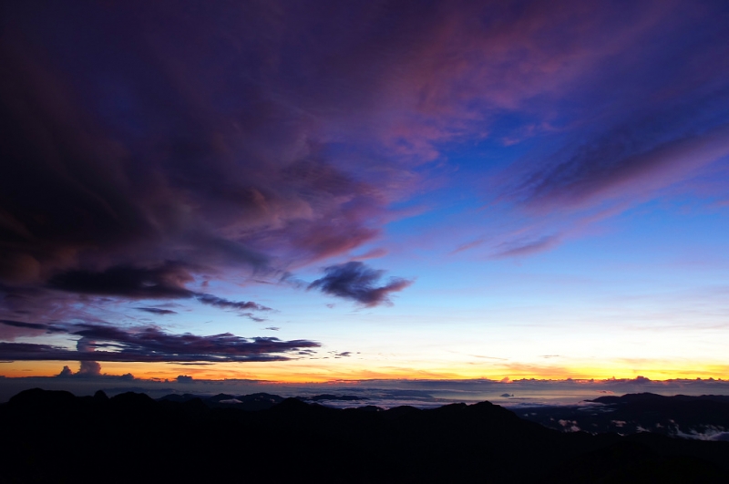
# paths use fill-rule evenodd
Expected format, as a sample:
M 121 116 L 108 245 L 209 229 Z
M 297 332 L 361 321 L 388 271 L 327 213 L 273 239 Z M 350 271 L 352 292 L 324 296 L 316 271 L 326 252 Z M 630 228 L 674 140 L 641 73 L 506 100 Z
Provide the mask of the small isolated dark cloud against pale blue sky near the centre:
M 364 306 L 391 304 L 389 295 L 402 291 L 412 281 L 391 277 L 385 285 L 377 286 L 385 271 L 371 269 L 364 263 L 349 262 L 324 268 L 323 278 L 309 284 L 309 289 L 318 289 L 344 299 L 351 299 Z

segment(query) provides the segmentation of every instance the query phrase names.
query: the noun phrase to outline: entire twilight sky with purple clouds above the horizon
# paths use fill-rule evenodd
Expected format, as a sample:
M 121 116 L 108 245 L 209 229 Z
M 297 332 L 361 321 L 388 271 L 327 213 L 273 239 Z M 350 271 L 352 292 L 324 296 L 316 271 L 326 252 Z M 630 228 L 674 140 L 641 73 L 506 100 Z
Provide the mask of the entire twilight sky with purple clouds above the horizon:
M 3 8 L 0 386 L 729 377 L 724 0 Z

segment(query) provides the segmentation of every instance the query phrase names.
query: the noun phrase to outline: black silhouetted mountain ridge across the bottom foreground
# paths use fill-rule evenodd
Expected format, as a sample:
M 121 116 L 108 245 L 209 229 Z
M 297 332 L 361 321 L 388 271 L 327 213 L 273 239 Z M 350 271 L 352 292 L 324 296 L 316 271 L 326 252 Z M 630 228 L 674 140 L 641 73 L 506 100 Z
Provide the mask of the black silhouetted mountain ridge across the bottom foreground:
M 0 406 L 0 482 L 729 482 L 728 442 L 562 433 L 488 402 L 251 397 L 261 409 L 26 390 Z

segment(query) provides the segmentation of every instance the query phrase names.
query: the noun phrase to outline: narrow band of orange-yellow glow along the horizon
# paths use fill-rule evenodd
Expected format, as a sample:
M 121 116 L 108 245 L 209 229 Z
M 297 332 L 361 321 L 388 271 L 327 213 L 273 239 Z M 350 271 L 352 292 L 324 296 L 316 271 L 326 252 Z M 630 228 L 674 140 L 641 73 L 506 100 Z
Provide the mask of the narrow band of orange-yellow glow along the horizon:
M 57 376 L 64 366 L 74 373 L 78 363 L 74 361 L 12 362 L 0 366 L 5 377 Z M 691 369 L 686 369 L 691 368 Z M 364 380 L 609 380 L 634 379 L 643 376 L 651 380 L 729 378 L 729 366 L 715 362 L 679 365 L 675 362 L 646 361 L 638 368 L 625 362 L 609 362 L 604 366 L 538 366 L 534 364 L 510 364 L 484 368 L 412 368 L 405 366 L 375 366 L 372 362 L 354 365 L 321 364 L 294 360 L 289 362 L 245 364 L 220 363 L 190 366 L 170 363 L 103 363 L 102 375 L 133 375 L 142 380 L 175 381 L 178 376 L 192 376 L 196 380 L 241 379 L 280 384 L 325 384 L 333 382 L 357 382 Z

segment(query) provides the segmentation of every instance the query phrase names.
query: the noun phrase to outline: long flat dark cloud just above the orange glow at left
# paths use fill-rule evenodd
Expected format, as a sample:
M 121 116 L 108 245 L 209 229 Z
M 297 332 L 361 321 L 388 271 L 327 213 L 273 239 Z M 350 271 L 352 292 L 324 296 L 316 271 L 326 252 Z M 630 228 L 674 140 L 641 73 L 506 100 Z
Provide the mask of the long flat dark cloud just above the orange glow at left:
M 223 333 L 199 336 L 170 335 L 144 326 L 120 329 L 96 324 L 71 324 L 68 335 L 79 336 L 77 350 L 55 345 L 0 343 L 0 357 L 18 361 L 77 360 L 80 374 L 95 375 L 98 361 L 115 362 L 244 362 L 289 359 L 285 354 L 320 344 L 307 340 L 282 341 L 272 337 L 243 338 Z

